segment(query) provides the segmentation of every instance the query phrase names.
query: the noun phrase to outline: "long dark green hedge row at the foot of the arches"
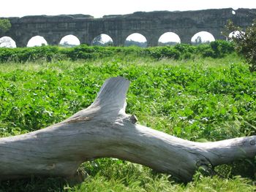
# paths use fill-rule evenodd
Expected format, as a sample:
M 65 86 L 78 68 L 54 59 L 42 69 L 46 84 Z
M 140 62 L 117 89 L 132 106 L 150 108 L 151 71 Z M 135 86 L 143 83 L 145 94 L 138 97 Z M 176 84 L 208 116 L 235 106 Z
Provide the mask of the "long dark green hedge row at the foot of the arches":
M 209 44 L 187 45 L 178 44 L 175 46 L 162 47 L 99 47 L 79 45 L 77 47 L 23 47 L 23 48 L 0 48 L 0 63 L 10 61 L 26 62 L 37 60 L 65 60 L 72 61 L 79 59 L 94 59 L 113 56 L 137 55 L 151 57 L 155 59 L 190 59 L 195 57 L 222 58 L 227 54 L 233 53 L 234 45 L 232 42 L 217 40 Z

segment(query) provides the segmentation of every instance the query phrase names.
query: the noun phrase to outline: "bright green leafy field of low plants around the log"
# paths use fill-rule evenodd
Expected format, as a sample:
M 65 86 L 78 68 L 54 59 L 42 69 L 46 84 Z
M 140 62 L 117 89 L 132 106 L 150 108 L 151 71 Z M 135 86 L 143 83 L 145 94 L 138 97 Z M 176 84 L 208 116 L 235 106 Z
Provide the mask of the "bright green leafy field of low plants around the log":
M 131 81 L 127 113 L 138 123 L 206 142 L 255 134 L 256 73 L 235 53 L 222 58 L 107 56 L 0 64 L 0 135 L 24 134 L 88 107 L 108 77 Z M 115 158 L 85 162 L 83 183 L 61 178 L 2 181 L 0 191 L 255 191 L 256 160 L 200 172 L 191 183 Z

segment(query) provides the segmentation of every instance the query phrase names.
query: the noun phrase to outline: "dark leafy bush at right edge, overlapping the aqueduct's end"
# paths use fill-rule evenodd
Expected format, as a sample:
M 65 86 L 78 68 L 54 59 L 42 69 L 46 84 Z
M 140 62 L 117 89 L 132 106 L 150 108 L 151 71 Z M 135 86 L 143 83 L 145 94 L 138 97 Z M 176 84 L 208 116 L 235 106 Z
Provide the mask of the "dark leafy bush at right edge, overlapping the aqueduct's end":
M 252 26 L 246 28 L 245 33 L 241 27 L 234 25 L 232 21 L 227 22 L 227 31 L 237 31 L 232 37 L 225 31 L 225 36 L 235 42 L 235 48 L 239 55 L 242 55 L 249 64 L 251 72 L 256 71 L 256 19 L 253 20 Z

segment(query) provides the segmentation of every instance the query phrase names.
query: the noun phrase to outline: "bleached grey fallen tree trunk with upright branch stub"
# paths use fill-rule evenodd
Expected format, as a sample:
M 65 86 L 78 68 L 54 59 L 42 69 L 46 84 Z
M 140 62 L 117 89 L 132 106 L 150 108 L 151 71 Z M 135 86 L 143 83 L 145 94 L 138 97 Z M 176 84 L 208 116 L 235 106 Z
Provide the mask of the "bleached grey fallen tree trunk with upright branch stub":
M 256 155 L 256 137 L 190 142 L 140 126 L 127 115 L 129 81 L 106 80 L 94 103 L 48 128 L 0 139 L 0 179 L 30 175 L 71 177 L 84 161 L 113 157 L 191 180 L 198 166 Z

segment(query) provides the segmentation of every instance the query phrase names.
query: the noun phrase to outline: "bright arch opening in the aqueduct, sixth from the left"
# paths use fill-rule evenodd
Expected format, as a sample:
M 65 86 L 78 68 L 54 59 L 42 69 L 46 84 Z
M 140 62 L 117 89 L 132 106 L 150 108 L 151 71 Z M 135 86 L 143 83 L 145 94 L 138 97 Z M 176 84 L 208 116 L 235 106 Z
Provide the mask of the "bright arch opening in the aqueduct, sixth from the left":
M 159 46 L 176 45 L 178 43 L 181 43 L 181 39 L 176 33 L 173 32 L 166 32 L 165 34 L 162 34 L 158 39 Z

